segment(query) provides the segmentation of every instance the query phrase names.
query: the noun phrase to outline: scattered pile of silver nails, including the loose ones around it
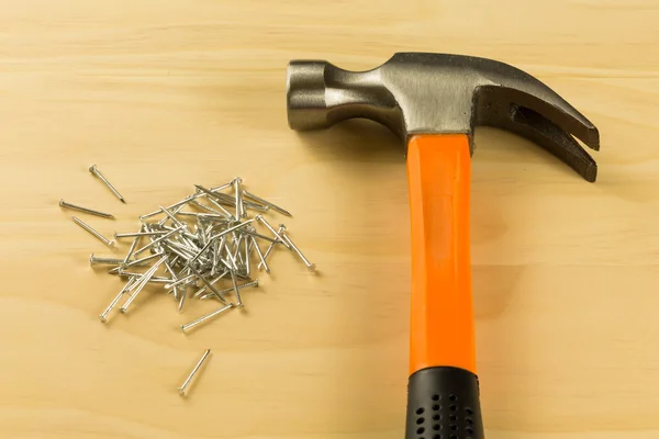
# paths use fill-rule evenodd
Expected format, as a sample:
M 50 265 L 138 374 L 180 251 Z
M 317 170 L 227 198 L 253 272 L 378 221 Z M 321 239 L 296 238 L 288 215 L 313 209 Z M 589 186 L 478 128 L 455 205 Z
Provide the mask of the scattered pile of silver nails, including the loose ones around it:
M 118 196 L 123 196 L 98 171 L 90 168 L 96 177 Z M 125 284 L 110 305 L 99 315 L 105 323 L 108 316 L 119 303 L 122 313 L 126 313 L 138 294 L 147 284 L 156 284 L 161 291 L 174 296 L 181 312 L 187 297 L 214 300 L 220 307 L 188 324 L 181 325 L 183 333 L 211 320 L 213 317 L 235 307 L 243 307 L 241 291 L 258 286 L 255 272 L 270 272 L 268 257 L 276 246 L 282 246 L 294 252 L 310 271 L 315 270 L 280 224 L 276 229 L 264 216 L 267 212 L 277 212 L 284 216 L 291 214 L 278 205 L 248 192 L 243 180 L 237 177 L 226 184 L 205 188 L 196 184 L 194 193 L 167 207 L 139 216 L 139 228 L 133 233 L 115 233 L 114 239 L 132 239 L 127 254 L 123 258 L 90 257 L 91 266 L 109 266 L 110 274 L 125 279 Z M 70 204 L 60 200 L 59 205 L 87 214 L 113 218 L 112 214 Z M 254 217 L 249 217 L 255 213 Z M 72 217 L 94 237 L 109 247 L 115 241 L 105 238 L 91 226 Z M 261 246 L 267 246 L 264 251 Z M 256 267 L 254 267 L 257 264 Z M 160 272 L 160 275 L 158 275 Z M 220 288 L 221 281 L 227 288 Z M 199 369 L 208 351 L 192 374 Z M 179 389 L 181 394 L 192 374 Z

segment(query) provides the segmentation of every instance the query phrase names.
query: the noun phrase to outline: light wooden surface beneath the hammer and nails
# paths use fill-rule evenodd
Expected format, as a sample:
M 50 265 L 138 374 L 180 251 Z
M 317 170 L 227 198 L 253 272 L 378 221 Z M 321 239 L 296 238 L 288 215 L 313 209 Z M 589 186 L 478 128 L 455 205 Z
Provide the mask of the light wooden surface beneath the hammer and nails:
M 472 263 L 489 439 L 659 435 L 659 3 L 4 0 L 0 7 L 0 436 L 402 438 L 409 214 L 402 149 L 346 123 L 298 135 L 291 58 L 354 69 L 393 52 L 479 55 L 546 81 L 599 127 L 589 184 L 478 130 Z M 87 168 L 96 162 L 122 205 Z M 189 336 L 156 291 L 108 325 L 104 234 L 192 184 L 242 176 L 295 215 L 317 263 L 272 257 L 264 288 Z M 277 221 L 277 219 L 275 219 Z M 122 248 L 125 250 L 125 247 Z M 176 387 L 213 356 L 188 399 Z

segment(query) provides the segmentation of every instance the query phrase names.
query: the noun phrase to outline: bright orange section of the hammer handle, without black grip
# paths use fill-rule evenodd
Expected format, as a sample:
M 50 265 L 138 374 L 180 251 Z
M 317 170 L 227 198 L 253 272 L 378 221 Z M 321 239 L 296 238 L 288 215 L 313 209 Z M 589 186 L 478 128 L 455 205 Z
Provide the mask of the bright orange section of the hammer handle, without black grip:
M 412 136 L 410 374 L 433 367 L 476 374 L 469 259 L 471 157 L 465 134 Z

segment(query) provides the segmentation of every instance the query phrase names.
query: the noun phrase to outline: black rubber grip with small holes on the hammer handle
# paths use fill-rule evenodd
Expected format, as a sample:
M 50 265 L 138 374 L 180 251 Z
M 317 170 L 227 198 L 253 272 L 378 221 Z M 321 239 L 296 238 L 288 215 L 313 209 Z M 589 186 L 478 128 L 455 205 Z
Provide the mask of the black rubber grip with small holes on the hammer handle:
M 422 369 L 407 383 L 405 439 L 484 439 L 478 376 L 458 368 Z

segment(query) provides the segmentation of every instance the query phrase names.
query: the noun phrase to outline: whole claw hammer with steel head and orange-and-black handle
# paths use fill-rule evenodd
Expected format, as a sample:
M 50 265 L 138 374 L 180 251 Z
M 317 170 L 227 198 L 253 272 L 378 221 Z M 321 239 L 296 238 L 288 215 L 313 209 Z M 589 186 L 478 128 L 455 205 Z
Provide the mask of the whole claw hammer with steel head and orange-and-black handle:
M 410 378 L 405 439 L 483 439 L 469 256 L 473 127 L 537 143 L 594 182 L 597 128 L 554 90 L 507 64 L 473 56 L 399 53 L 368 71 L 293 60 L 292 130 L 365 117 L 406 146 L 412 238 Z

